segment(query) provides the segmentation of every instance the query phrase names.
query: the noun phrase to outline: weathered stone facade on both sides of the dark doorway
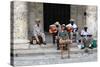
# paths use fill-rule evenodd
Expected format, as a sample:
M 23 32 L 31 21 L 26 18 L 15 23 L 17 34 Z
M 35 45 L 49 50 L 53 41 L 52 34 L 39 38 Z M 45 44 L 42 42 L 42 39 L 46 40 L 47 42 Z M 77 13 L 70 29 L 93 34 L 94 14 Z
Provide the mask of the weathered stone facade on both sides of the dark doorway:
M 43 30 L 43 3 L 13 1 L 11 2 L 11 34 L 14 49 L 25 49 L 29 46 L 29 38 L 33 35 L 35 19 L 41 20 Z M 89 31 L 97 37 L 97 7 L 71 5 L 70 17 L 75 19 L 79 29 L 89 27 Z M 85 15 L 86 14 L 86 15 Z

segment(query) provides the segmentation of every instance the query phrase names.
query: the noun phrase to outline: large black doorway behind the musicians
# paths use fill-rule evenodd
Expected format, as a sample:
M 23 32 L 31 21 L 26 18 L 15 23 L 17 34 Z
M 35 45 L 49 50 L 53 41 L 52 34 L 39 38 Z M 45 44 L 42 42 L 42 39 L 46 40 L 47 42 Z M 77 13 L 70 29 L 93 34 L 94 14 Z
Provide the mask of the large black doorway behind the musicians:
M 44 31 L 48 32 L 49 25 L 59 21 L 60 24 L 68 24 L 70 20 L 69 4 L 43 4 Z

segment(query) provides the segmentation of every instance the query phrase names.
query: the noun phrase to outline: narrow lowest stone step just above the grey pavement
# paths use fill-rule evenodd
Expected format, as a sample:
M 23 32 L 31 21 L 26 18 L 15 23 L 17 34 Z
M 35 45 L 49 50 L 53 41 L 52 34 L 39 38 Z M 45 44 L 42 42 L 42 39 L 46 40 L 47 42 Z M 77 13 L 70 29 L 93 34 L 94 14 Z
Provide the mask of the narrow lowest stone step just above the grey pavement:
M 64 54 L 65 57 L 67 57 L 67 54 Z M 81 58 L 81 57 L 87 57 L 87 56 L 97 56 L 97 53 L 92 53 L 92 54 L 81 54 L 81 53 L 78 53 L 78 54 L 71 54 L 71 59 L 72 58 Z M 48 55 L 48 54 L 45 54 L 45 55 L 40 55 L 40 56 L 19 56 L 19 57 L 14 57 L 15 60 L 38 60 L 38 59 L 56 59 L 56 58 L 61 58 L 60 55 L 58 54 L 55 54 L 55 55 Z M 67 57 L 68 58 L 68 57 Z

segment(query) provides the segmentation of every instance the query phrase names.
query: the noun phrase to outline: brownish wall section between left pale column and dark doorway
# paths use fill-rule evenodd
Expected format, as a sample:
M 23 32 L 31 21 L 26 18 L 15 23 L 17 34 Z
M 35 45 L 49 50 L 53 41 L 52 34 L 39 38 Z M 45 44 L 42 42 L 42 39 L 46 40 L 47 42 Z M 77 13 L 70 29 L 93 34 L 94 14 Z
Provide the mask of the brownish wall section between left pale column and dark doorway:
M 41 23 L 41 29 L 43 30 L 43 3 L 35 3 L 35 2 L 29 2 L 28 3 L 28 37 L 30 38 L 33 35 L 33 26 L 35 24 L 35 19 L 40 19 Z

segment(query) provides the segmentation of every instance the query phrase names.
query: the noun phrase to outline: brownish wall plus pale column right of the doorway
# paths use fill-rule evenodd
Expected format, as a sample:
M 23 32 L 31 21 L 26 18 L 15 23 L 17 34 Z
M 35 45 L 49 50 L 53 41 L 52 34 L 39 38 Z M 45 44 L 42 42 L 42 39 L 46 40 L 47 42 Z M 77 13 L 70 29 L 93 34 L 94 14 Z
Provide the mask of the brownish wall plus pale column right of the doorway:
M 88 31 L 97 38 L 97 7 L 88 5 L 71 5 L 71 18 L 73 18 L 79 27 L 79 31 L 88 27 Z

